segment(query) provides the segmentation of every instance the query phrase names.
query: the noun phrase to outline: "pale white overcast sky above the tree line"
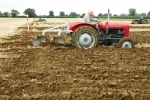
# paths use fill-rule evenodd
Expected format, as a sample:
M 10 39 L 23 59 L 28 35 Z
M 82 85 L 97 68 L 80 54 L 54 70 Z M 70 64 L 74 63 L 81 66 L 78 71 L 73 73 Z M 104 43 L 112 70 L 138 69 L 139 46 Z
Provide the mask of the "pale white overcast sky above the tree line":
M 79 14 L 94 11 L 94 15 L 107 13 L 110 9 L 112 14 L 128 14 L 129 8 L 135 8 L 138 13 L 150 11 L 150 0 L 0 0 L 0 11 L 10 12 L 11 9 L 18 10 L 20 15 L 26 8 L 35 9 L 37 15 L 48 15 L 54 11 L 59 15 L 60 11 L 69 14 L 75 11 Z

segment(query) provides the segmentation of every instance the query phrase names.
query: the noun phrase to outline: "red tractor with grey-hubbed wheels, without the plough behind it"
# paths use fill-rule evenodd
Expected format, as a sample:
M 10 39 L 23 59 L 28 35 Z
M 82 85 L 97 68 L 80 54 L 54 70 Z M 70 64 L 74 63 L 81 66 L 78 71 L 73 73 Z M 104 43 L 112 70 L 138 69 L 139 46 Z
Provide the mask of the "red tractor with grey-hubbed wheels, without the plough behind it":
M 90 24 L 71 23 L 73 31 L 72 44 L 77 48 L 94 48 L 99 43 L 116 45 L 121 48 L 132 48 L 133 41 L 129 38 L 129 25 L 126 23 L 101 23 L 99 30 Z

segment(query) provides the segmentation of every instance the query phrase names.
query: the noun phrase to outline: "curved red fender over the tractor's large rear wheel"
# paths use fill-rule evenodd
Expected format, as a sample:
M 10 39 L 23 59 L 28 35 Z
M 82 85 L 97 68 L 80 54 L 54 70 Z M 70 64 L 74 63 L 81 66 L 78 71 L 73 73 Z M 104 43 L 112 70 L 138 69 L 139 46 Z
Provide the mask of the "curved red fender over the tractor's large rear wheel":
M 69 27 L 69 30 L 72 30 L 74 32 L 76 29 L 78 29 L 81 26 L 90 26 L 93 29 L 95 29 L 96 31 L 98 31 L 98 29 L 94 25 L 87 24 L 87 23 L 76 23 L 76 24 L 75 23 L 71 23 L 70 27 Z

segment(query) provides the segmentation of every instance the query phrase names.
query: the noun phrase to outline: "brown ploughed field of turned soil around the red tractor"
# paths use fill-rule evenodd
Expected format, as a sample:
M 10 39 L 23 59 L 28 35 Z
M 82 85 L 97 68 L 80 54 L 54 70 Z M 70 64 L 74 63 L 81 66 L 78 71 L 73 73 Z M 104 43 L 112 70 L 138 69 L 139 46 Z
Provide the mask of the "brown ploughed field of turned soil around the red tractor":
M 132 49 L 32 46 L 42 30 L 63 23 L 48 21 L 30 23 L 29 35 L 17 24 L 0 38 L 1 100 L 150 100 L 150 25 L 130 25 Z

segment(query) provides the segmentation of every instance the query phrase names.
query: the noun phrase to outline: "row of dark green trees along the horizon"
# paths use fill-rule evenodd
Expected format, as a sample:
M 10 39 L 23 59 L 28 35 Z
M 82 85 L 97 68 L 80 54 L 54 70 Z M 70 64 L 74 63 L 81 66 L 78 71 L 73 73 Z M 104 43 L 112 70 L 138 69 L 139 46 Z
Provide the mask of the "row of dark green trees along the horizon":
M 19 15 L 20 13 L 17 11 L 17 10 L 15 10 L 15 9 L 12 9 L 10 12 L 1 12 L 0 11 L 0 17 L 19 17 L 20 15 Z M 29 17 L 39 17 L 37 14 L 36 14 L 36 11 L 35 11 L 35 9 L 32 9 L 32 8 L 27 8 L 27 9 L 25 9 L 24 10 L 24 12 L 23 12 L 23 14 L 24 15 L 29 15 Z M 53 17 L 83 17 L 85 15 L 85 13 L 83 13 L 83 14 L 78 14 L 78 13 L 76 13 L 76 12 L 70 12 L 69 14 L 66 14 L 64 11 L 60 11 L 59 12 L 59 15 L 58 16 L 56 16 L 55 14 L 54 14 L 54 11 L 52 11 L 52 10 L 50 10 L 49 11 L 49 13 L 47 14 L 47 15 L 42 15 L 42 16 L 40 16 L 40 17 L 51 17 L 51 18 L 53 18 Z M 108 13 L 105 13 L 105 14 L 102 14 L 102 13 L 99 13 L 98 15 L 94 15 L 95 17 L 107 17 L 108 16 Z M 120 14 L 120 15 L 117 15 L 117 14 L 111 14 L 110 13 L 110 16 L 111 17 L 128 17 L 128 16 L 130 16 L 130 17 L 135 17 L 135 16 L 143 16 L 143 17 L 145 17 L 145 16 L 150 16 L 150 11 L 146 14 L 146 13 L 141 13 L 141 14 L 139 14 L 139 13 L 137 13 L 136 12 L 136 9 L 135 8 L 130 8 L 129 10 L 128 10 L 128 14 Z

